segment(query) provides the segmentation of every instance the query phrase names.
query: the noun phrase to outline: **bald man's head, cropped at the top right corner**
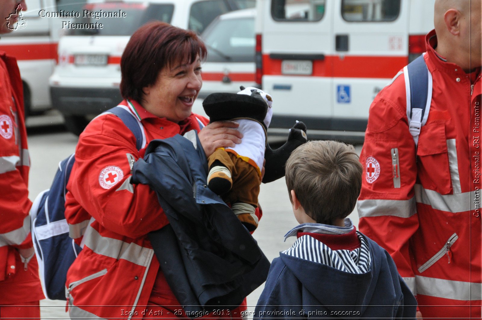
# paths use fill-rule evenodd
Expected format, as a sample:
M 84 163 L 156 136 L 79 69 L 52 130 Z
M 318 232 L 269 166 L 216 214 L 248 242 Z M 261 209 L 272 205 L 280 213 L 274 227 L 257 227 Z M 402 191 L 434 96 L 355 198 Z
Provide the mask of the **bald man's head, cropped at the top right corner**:
M 437 52 L 465 70 L 482 65 L 482 0 L 436 0 Z

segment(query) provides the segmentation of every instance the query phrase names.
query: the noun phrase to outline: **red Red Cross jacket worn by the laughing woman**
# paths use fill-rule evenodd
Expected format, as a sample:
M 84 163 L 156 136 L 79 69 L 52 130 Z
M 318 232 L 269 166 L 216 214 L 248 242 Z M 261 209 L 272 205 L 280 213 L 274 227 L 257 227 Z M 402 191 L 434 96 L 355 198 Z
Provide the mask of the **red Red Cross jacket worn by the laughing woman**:
M 147 239 L 148 232 L 164 227 L 168 220 L 149 186 L 130 184 L 130 166 L 144 156 L 151 140 L 199 131 L 196 118 L 204 124 L 209 121 L 191 114 L 180 126 L 135 102 L 130 105 L 124 100 L 121 105 L 143 126 L 141 151 L 122 120 L 114 115 L 99 116 L 80 135 L 67 185 L 65 214 L 70 236 L 80 239 L 83 235 L 83 250 L 67 273 L 70 316 L 142 317 L 150 302 L 165 307 L 163 316 L 175 317 L 180 307 L 168 306 L 179 303 L 159 271 Z M 154 298 L 151 292 L 159 294 Z

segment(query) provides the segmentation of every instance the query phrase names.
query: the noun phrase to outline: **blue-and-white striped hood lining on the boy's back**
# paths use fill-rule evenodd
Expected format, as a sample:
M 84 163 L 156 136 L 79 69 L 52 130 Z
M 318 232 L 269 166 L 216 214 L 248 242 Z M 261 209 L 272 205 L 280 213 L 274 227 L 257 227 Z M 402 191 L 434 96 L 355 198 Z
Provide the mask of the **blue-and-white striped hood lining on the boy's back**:
M 321 263 L 348 273 L 362 274 L 370 271 L 372 257 L 367 241 L 357 231 L 361 247 L 355 250 L 332 250 L 319 240 L 303 235 L 295 241 L 293 246 L 281 253 Z

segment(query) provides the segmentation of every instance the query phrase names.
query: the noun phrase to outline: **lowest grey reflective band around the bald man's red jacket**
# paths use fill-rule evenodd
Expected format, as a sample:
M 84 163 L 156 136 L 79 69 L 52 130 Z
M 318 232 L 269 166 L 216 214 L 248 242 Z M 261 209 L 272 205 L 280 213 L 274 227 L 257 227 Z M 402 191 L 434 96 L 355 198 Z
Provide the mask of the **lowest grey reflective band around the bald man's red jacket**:
M 415 276 L 415 283 L 417 288 L 416 294 L 461 301 L 482 300 L 482 283 L 422 276 Z

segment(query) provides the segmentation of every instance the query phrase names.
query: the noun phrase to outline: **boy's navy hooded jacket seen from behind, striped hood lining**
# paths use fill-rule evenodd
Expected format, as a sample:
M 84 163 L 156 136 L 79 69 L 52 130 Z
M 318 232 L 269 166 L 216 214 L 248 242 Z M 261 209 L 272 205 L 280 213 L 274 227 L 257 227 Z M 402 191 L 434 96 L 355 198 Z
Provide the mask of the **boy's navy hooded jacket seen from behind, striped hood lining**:
M 350 273 L 309 261 L 308 255 L 311 258 L 313 253 L 320 254 L 318 259 L 330 253 L 313 250 L 321 247 L 321 242 L 303 236 L 311 240 L 296 241 L 273 260 L 254 319 L 415 319 L 415 297 L 390 255 L 373 240 L 357 234 L 370 252 L 368 272 Z

